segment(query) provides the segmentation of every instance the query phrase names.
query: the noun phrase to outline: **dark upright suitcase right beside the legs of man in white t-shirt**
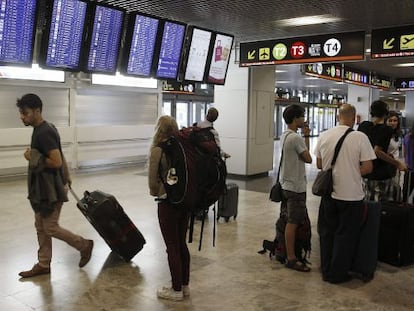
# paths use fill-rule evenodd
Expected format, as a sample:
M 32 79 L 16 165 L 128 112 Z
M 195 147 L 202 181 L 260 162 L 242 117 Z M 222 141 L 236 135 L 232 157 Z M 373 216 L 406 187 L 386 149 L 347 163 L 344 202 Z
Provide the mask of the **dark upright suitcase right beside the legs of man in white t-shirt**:
M 377 268 L 381 204 L 368 201 L 365 202 L 364 209 L 364 218 L 351 271 L 366 282 L 373 279 Z

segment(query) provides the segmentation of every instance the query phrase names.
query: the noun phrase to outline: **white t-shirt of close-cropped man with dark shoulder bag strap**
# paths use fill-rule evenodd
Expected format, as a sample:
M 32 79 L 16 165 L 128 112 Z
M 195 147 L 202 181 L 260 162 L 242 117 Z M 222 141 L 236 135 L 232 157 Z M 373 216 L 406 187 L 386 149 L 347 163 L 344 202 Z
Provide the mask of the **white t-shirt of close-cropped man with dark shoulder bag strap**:
M 349 127 L 338 125 L 323 133 L 318 138 L 314 154 L 322 159 L 322 170 L 331 167 L 335 146 Z M 365 193 L 362 186 L 360 163 L 374 160 L 375 152 L 367 135 L 359 131 L 349 133 L 339 151 L 332 171 L 332 198 L 343 201 L 360 201 Z

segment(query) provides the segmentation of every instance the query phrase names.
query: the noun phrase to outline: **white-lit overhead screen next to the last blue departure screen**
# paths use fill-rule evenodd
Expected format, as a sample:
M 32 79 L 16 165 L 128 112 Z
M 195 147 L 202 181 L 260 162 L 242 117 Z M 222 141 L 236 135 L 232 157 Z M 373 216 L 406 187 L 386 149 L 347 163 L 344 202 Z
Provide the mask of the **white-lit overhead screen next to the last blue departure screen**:
M 210 30 L 196 27 L 192 29 L 184 66 L 184 80 L 197 82 L 204 80 L 211 37 Z

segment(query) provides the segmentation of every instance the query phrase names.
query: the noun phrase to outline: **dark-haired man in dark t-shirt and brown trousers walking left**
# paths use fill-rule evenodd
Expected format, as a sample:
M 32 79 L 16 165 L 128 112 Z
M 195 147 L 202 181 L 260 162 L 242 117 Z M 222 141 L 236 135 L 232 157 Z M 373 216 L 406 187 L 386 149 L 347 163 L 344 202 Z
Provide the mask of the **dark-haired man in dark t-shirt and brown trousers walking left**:
M 50 273 L 52 238 L 65 241 L 80 252 L 79 267 L 85 266 L 92 254 L 93 241 L 86 240 L 59 226 L 63 202 L 68 201 L 69 170 L 61 153 L 60 137 L 53 124 L 42 117 L 43 103 L 39 96 L 26 94 L 17 100 L 20 119 L 25 126 L 33 126 L 30 148 L 24 153 L 29 162 L 29 200 L 35 213 L 35 227 L 39 243 L 38 263 L 22 271 L 22 278 Z

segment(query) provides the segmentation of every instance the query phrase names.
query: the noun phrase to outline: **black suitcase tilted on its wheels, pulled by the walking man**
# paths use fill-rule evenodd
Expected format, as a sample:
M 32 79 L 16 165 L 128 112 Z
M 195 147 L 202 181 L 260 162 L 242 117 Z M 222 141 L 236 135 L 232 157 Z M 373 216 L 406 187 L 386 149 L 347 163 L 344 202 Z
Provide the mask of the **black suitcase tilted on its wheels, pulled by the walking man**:
M 130 261 L 143 247 L 144 236 L 113 195 L 85 191 L 82 199 L 70 189 L 77 206 L 112 251 Z

